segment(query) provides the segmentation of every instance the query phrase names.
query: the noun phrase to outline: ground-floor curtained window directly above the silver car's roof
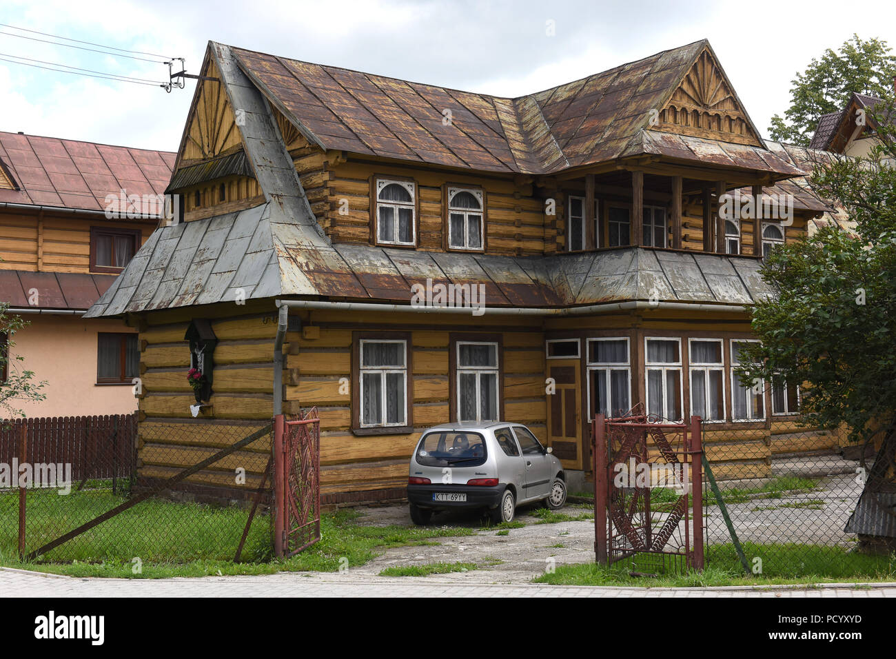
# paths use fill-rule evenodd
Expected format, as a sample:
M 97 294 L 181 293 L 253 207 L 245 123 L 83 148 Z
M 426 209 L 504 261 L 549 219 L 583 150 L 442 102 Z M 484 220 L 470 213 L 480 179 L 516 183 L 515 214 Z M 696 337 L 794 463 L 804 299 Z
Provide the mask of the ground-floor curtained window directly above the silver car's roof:
M 498 344 L 459 341 L 457 351 L 457 420 L 499 421 Z

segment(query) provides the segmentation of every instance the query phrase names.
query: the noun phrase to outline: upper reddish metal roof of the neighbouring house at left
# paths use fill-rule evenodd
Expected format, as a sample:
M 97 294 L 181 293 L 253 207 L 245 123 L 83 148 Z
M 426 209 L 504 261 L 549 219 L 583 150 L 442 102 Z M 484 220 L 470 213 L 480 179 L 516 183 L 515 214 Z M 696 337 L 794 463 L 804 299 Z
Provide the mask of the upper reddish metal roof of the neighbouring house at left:
M 176 153 L 0 132 L 0 162 L 17 189 L 0 202 L 103 211 L 107 195 L 162 195 Z M 145 212 L 151 212 L 146 206 Z M 154 209 L 153 209 L 154 210 Z

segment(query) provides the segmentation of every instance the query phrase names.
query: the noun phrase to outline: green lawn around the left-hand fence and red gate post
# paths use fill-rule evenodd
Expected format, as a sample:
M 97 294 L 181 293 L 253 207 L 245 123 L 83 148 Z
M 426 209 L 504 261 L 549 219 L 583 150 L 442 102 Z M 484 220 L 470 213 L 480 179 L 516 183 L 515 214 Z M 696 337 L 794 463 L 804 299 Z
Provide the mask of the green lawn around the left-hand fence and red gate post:
M 36 500 L 32 500 L 36 499 Z M 67 497 L 29 494 L 30 550 L 114 507 L 121 497 L 81 492 Z M 65 542 L 38 561 L 23 562 L 16 550 L 17 498 L 0 496 L 0 565 L 73 577 L 203 577 L 279 571 L 335 571 L 364 565 L 392 547 L 436 544 L 436 538 L 474 533 L 464 527 L 358 525 L 360 515 L 341 510 L 321 517 L 321 542 L 291 559 L 271 559 L 270 525 L 257 516 L 243 561 L 233 561 L 246 525 L 246 511 L 150 499 Z M 142 571 L 134 573 L 134 558 Z

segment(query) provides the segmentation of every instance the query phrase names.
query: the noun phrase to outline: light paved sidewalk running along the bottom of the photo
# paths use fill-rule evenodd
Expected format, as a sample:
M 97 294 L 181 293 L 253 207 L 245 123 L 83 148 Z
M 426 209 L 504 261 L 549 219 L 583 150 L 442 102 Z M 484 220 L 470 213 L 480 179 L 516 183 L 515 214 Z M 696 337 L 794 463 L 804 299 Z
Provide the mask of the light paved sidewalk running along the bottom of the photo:
M 434 577 L 281 572 L 259 577 L 105 579 L 0 568 L 0 597 L 896 597 L 896 584 L 614 588 L 458 584 Z

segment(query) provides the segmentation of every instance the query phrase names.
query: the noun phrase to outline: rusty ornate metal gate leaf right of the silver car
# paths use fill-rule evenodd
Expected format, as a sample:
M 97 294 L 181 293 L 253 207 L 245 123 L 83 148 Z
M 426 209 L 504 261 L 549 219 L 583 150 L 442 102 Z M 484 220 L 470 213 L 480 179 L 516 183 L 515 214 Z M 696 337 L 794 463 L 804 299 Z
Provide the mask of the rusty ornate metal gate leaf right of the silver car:
M 631 558 L 635 572 L 702 569 L 700 417 L 688 426 L 636 408 L 597 415 L 592 433 L 597 562 Z

